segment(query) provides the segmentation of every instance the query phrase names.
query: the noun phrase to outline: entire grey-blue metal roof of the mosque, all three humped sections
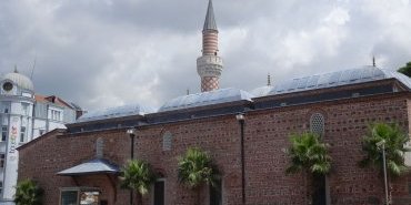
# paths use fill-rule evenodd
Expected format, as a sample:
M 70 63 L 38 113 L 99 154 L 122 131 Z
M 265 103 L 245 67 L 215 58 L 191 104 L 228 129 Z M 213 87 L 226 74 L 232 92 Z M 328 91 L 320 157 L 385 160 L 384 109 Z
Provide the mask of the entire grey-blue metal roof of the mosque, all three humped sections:
M 260 96 L 287 94 L 317 89 L 334 88 L 340 85 L 351 85 L 385 79 L 395 79 L 411 90 L 411 79 L 399 72 L 383 70 L 375 66 L 361 66 L 357 69 L 284 80 L 275 85 L 265 85 L 254 89 L 250 93 L 239 89 L 229 88 L 178 96 L 166 102 L 158 111 L 152 107 L 142 106 L 139 104 L 104 109 L 86 113 L 80 119 L 78 119 L 77 122 L 81 123 L 131 115 L 146 115 L 156 112 L 176 111 L 235 101 L 252 102 L 254 98 Z

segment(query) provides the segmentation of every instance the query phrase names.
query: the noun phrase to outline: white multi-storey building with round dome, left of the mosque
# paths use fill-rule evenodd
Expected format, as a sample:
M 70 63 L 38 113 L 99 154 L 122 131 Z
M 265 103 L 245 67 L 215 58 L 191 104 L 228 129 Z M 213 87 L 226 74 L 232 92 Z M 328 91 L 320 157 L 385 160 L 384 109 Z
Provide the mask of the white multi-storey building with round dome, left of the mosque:
M 19 153 L 16 147 L 76 121 L 80 109 L 52 95 L 34 93 L 32 81 L 19 73 L 0 76 L 0 205 L 14 204 Z

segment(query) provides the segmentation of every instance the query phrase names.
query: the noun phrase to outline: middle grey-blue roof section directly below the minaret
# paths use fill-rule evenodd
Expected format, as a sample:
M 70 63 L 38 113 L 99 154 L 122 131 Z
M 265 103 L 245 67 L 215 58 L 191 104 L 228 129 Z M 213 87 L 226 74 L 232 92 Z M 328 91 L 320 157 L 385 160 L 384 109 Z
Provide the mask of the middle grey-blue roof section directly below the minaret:
M 206 106 L 233 101 L 252 101 L 252 94 L 239 89 L 220 89 L 210 92 L 202 92 L 176 98 L 166 102 L 159 112 L 189 109 L 196 106 Z

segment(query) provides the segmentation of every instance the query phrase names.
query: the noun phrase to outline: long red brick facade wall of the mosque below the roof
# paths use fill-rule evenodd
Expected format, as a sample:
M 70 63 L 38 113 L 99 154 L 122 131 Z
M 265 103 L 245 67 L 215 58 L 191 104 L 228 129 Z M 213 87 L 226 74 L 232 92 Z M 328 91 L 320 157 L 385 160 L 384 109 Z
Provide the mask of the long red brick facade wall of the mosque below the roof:
M 245 116 L 245 195 L 247 204 L 307 204 L 304 176 L 284 174 L 289 163 L 284 148 L 289 134 L 309 130 L 310 116 L 325 119 L 324 141 L 330 144 L 332 172 L 329 175 L 331 204 L 382 204 L 383 181 L 374 170 L 359 168 L 361 136 L 370 122 L 398 122 L 409 130 L 411 109 L 408 93 L 384 94 L 333 102 L 314 103 L 264 111 Z M 172 134 L 171 150 L 163 151 L 163 134 Z M 241 204 L 240 125 L 234 115 L 189 120 L 141 126 L 136 141 L 136 156 L 148 161 L 166 178 L 166 204 L 192 205 L 196 193 L 177 181 L 177 156 L 190 146 L 211 153 L 221 173 L 223 204 Z M 89 161 L 94 144 L 103 139 L 104 158 L 123 165 L 130 154 L 130 137 L 124 129 L 71 135 L 54 131 L 20 148 L 19 178 L 34 178 L 46 188 L 46 205 L 59 204 L 59 188 L 100 187 L 109 204 L 129 204 L 129 193 L 113 189 L 109 176 L 82 176 L 76 180 L 56 173 Z M 394 204 L 411 204 L 407 176 L 392 180 Z M 207 204 L 208 193 L 202 193 Z M 117 193 L 117 194 L 116 194 Z M 114 196 L 117 198 L 114 199 Z M 114 202 L 116 201 L 116 202 Z M 150 196 L 144 204 L 152 204 Z

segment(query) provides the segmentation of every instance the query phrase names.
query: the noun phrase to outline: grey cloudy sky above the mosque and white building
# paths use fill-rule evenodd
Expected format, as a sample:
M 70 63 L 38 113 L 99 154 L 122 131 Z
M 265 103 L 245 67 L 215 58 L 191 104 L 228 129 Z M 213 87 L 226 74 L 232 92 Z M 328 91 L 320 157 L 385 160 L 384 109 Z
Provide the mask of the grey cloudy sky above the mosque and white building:
M 1 0 L 0 73 L 97 110 L 199 92 L 208 0 Z M 214 0 L 222 88 L 411 61 L 409 0 Z

